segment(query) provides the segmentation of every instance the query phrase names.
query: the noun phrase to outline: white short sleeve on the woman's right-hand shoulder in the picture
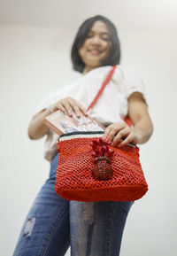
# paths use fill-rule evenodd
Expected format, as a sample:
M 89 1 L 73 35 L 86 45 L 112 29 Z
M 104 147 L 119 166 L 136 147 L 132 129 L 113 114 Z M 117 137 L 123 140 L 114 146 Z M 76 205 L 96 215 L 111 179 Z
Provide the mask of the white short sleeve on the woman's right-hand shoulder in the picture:
M 130 95 L 138 91 L 142 94 L 142 97 L 148 106 L 147 100 L 147 82 L 142 79 L 142 77 L 135 72 L 135 70 L 124 66 L 121 68 L 122 71 L 122 81 L 121 85 L 124 90 L 125 96 L 128 98 Z

